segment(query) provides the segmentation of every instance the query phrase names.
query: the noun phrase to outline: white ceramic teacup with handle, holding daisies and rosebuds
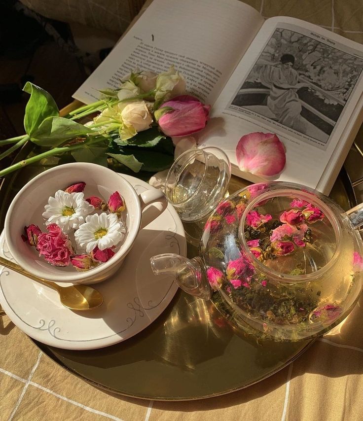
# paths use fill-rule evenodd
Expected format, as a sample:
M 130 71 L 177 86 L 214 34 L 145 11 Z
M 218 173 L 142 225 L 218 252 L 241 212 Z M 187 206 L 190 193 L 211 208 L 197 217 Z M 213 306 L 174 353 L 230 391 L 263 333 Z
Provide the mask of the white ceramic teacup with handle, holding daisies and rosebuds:
M 43 232 L 46 231 L 42 213 L 49 196 L 54 197 L 57 190 L 64 190 L 80 181 L 86 183 L 85 197 L 97 196 L 107 202 L 109 196 L 118 191 L 125 201 L 127 213 L 124 218 L 126 234 L 115 255 L 109 261 L 85 272 L 76 272 L 72 265 L 52 266 L 39 256 L 35 247 L 24 243 L 21 238 L 24 227 L 30 224 L 38 225 Z M 159 216 L 166 207 L 167 200 L 161 190 L 151 187 L 138 195 L 122 175 L 108 168 L 90 163 L 60 165 L 37 175 L 15 196 L 5 218 L 6 243 L 19 265 L 40 278 L 86 284 L 101 282 L 120 268 L 139 231 Z

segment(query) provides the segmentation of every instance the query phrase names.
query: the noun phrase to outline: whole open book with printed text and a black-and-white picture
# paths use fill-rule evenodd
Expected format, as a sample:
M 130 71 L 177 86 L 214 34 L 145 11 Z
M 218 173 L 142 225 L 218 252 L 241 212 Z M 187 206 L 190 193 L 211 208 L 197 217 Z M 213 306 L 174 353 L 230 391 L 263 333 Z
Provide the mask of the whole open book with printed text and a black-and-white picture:
M 251 132 L 286 147 L 280 181 L 326 194 L 363 120 L 363 46 L 310 23 L 266 21 L 238 0 L 154 0 L 75 92 L 90 103 L 130 70 L 181 71 L 187 90 L 211 104 L 198 144 L 218 146 L 239 170 L 235 148 Z

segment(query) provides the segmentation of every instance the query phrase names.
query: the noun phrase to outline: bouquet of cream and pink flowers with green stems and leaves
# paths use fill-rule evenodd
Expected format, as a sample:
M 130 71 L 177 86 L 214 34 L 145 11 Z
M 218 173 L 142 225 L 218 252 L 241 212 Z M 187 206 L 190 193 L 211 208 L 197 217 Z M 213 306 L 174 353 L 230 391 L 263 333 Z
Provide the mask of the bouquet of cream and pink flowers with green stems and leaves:
M 0 140 L 10 145 L 0 160 L 27 142 L 46 148 L 0 171 L 0 177 L 43 158 L 71 152 L 75 161 L 108 166 L 116 161 L 133 172 L 157 172 L 174 160 L 171 137 L 182 137 L 203 129 L 209 105 L 185 94 L 185 81 L 174 67 L 162 73 L 135 71 L 115 90 L 101 91 L 102 98 L 61 117 L 51 95 L 27 82 L 30 94 L 25 109 L 26 134 Z M 97 115 L 81 124 L 77 120 Z

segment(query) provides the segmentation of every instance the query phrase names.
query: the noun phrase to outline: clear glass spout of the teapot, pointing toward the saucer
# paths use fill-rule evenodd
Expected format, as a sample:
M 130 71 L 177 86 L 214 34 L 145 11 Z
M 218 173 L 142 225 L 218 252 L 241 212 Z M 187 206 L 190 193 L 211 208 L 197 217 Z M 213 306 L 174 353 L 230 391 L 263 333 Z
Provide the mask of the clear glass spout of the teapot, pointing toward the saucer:
M 209 300 L 211 288 L 202 259 L 188 259 L 179 254 L 165 253 L 150 258 L 155 275 L 173 275 L 183 291 L 195 297 Z

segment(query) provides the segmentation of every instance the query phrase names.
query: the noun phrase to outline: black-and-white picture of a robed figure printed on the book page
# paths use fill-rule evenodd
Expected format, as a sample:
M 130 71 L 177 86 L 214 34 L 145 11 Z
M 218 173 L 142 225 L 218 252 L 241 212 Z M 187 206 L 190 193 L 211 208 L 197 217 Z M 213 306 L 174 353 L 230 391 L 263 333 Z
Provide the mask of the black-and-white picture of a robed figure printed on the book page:
M 362 70 L 352 54 L 277 28 L 229 108 L 247 108 L 327 144 Z

